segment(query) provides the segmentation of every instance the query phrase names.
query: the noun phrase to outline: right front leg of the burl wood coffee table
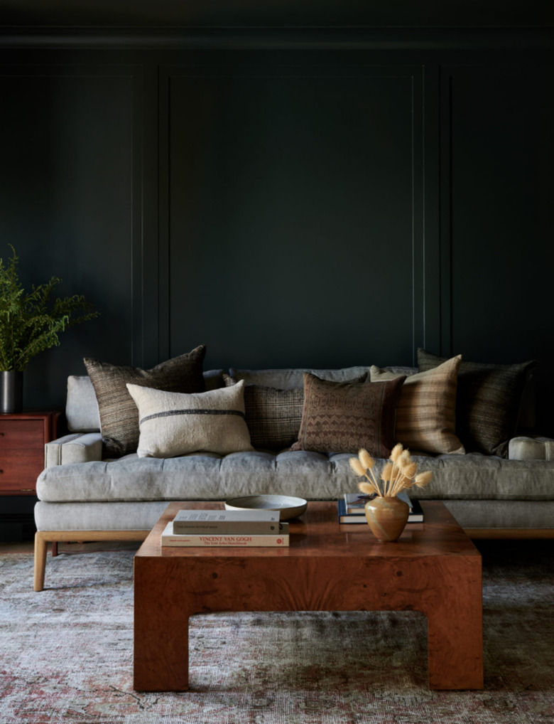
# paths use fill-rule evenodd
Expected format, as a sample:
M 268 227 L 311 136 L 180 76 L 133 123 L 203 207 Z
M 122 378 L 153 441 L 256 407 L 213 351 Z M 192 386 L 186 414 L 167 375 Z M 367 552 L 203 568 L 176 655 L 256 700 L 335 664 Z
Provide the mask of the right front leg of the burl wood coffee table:
M 425 611 L 430 689 L 483 688 L 481 571 L 449 586 Z

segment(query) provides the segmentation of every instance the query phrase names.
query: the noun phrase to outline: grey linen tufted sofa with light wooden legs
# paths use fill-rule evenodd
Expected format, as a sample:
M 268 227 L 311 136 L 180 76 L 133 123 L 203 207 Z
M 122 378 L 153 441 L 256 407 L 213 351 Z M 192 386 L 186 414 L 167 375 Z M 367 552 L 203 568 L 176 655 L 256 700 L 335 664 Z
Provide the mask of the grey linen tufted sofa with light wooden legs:
M 417 369 L 385 368 L 411 375 Z M 302 387 L 304 369 L 236 370 L 233 379 L 278 390 Z M 370 367 L 311 370 L 344 382 Z M 223 387 L 223 371 L 204 373 L 207 390 Z M 35 505 L 35 590 L 43 589 L 48 542 L 140 540 L 171 501 L 225 500 L 280 493 L 307 500 L 338 500 L 357 489 L 351 453 L 254 449 L 221 455 L 192 452 L 175 458 L 103 459 L 100 420 L 88 376 L 70 376 L 66 417 L 69 434 L 46 445 L 45 469 Z M 519 435 L 508 458 L 480 453 L 419 455 L 419 470 L 432 482 L 412 489 L 420 500 L 443 500 L 472 537 L 554 536 L 554 440 Z M 376 468 L 384 464 L 376 461 Z M 54 550 L 55 546 L 53 546 Z

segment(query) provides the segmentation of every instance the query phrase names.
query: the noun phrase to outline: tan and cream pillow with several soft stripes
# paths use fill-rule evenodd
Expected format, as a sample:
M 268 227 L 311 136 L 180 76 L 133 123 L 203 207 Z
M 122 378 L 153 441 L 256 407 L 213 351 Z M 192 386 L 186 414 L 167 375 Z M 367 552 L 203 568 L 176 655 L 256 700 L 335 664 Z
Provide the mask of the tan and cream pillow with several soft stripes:
M 396 409 L 396 439 L 413 452 L 463 455 L 456 436 L 456 387 L 461 355 L 427 372 L 406 377 Z M 371 381 L 385 382 L 399 375 L 372 366 Z

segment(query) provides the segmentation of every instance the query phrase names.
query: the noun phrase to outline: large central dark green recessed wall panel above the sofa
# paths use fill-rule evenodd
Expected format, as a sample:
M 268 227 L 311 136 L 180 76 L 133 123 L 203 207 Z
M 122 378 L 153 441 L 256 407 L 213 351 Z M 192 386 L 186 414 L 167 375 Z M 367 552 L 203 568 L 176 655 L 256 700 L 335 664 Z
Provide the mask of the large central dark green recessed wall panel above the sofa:
M 413 75 L 394 69 L 169 71 L 171 354 L 411 362 L 417 111 Z

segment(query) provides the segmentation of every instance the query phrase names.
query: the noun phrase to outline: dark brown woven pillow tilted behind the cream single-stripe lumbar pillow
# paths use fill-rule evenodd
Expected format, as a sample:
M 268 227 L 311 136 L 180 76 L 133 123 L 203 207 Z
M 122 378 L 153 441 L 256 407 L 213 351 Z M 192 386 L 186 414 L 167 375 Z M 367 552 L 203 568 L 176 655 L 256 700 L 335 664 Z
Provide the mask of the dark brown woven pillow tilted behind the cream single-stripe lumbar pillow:
M 204 392 L 202 374 L 205 345 L 192 352 L 161 362 L 152 369 L 118 366 L 85 357 L 100 413 L 104 455 L 119 458 L 137 452 L 139 416 L 126 384 L 140 384 L 166 392 Z

